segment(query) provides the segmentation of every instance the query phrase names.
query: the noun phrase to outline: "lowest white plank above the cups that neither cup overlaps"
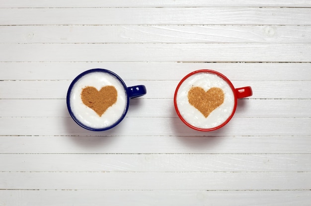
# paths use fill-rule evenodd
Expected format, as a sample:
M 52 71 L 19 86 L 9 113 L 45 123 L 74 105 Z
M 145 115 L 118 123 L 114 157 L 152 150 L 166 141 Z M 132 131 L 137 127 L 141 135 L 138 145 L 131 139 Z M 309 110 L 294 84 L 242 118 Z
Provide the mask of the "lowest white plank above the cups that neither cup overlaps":
M 1 46 L 1 62 L 311 62 L 311 44 L 146 43 Z

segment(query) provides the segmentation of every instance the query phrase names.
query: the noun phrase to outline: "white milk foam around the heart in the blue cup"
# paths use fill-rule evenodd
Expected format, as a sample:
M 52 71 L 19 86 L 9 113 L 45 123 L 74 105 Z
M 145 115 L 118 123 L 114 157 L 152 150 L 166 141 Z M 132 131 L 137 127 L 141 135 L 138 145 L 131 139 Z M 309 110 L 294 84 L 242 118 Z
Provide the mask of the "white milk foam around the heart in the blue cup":
M 83 104 L 81 99 L 82 89 L 86 86 L 93 86 L 98 91 L 104 87 L 112 85 L 116 88 L 118 97 L 117 102 L 109 107 L 101 117 Z M 94 129 L 106 128 L 116 123 L 123 115 L 127 105 L 127 94 L 123 84 L 113 75 L 95 71 L 83 75 L 74 84 L 70 94 L 70 107 L 75 117 L 83 125 Z

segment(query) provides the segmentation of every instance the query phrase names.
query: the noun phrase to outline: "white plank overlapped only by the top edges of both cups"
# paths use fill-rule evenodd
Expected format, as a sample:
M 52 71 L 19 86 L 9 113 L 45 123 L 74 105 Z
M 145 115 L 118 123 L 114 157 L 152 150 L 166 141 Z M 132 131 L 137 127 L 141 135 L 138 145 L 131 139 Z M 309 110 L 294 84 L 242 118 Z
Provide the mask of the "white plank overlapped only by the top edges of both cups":
M 198 69 L 217 70 L 230 80 L 311 80 L 310 63 L 0 62 L 0 68 L 1 80 L 73 80 L 94 68 L 137 81 L 180 80 Z

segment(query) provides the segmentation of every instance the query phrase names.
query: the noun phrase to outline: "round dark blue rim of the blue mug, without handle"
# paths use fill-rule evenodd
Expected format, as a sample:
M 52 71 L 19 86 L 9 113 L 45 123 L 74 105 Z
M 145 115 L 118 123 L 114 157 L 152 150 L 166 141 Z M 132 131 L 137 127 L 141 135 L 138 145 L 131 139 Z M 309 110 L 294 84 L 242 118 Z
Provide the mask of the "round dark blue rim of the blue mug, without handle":
M 74 112 L 72 111 L 71 109 L 71 106 L 70 106 L 70 95 L 71 95 L 71 91 L 72 91 L 72 88 L 74 87 L 75 83 L 82 77 L 84 76 L 85 74 L 88 74 L 88 73 L 92 73 L 92 72 L 105 72 L 105 73 L 109 73 L 111 75 L 113 75 L 114 77 L 116 77 L 120 82 L 121 84 L 123 85 L 123 88 L 124 88 L 124 91 L 126 93 L 126 97 L 127 97 L 127 101 L 126 101 L 126 107 L 125 107 L 125 110 L 122 114 L 122 116 L 118 119 L 118 121 L 116 121 L 114 124 L 110 125 L 109 127 L 105 127 L 105 128 L 92 128 L 92 127 L 89 127 L 89 126 L 86 126 L 84 125 L 83 123 L 81 123 L 75 116 Z M 115 126 L 117 126 L 123 119 L 124 117 L 126 116 L 126 113 L 128 112 L 128 109 L 129 109 L 129 101 L 130 100 L 130 97 L 129 97 L 129 93 L 128 93 L 128 89 L 127 89 L 127 86 L 126 84 L 124 83 L 124 81 L 122 80 L 122 78 L 120 76 L 118 76 L 116 73 L 108 70 L 108 69 L 89 69 L 89 70 L 86 70 L 86 71 L 83 71 L 82 73 L 78 74 L 78 76 L 76 76 L 76 78 L 74 78 L 74 80 L 71 82 L 69 88 L 68 88 L 68 91 L 67 91 L 67 97 L 66 97 L 66 103 L 67 103 L 67 109 L 68 109 L 68 112 L 70 114 L 70 116 L 73 118 L 73 120 L 82 128 L 86 129 L 86 130 L 90 130 L 90 131 L 105 131 L 105 130 L 109 130 L 109 129 L 112 129 L 114 128 Z

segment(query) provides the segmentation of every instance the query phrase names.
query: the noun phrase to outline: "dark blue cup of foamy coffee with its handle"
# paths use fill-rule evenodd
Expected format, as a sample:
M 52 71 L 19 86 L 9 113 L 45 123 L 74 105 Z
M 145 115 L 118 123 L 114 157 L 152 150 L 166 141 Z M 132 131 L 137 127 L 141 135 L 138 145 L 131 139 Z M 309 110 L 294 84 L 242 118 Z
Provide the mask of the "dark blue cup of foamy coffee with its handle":
M 112 71 L 90 69 L 80 73 L 70 84 L 67 108 L 82 128 L 105 131 L 124 119 L 131 98 L 146 93 L 144 85 L 127 87 Z

